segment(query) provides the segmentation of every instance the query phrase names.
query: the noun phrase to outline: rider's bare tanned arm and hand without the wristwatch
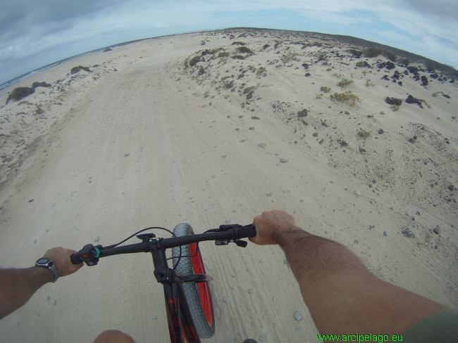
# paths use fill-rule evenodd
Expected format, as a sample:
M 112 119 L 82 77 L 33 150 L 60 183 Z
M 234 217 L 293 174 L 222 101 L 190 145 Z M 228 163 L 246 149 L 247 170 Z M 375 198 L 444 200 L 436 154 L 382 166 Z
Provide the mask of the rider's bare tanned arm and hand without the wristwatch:
M 284 211 L 264 212 L 253 224 L 250 240 L 285 251 L 321 334 L 400 334 L 445 309 L 373 276 L 347 248 L 307 233 Z

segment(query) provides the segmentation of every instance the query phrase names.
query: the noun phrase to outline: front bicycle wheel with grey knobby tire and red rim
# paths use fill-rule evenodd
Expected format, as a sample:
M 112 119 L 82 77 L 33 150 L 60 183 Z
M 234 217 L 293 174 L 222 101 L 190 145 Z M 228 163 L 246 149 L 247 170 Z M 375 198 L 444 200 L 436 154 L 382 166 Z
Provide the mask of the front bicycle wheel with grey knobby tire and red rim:
M 181 223 L 175 226 L 173 233 L 177 236 L 194 235 L 190 224 Z M 177 264 L 180 257 L 180 247 L 172 248 L 173 266 Z M 199 246 L 196 243 L 182 245 L 181 259 L 175 271 L 182 276 L 192 274 L 204 274 L 204 261 L 200 254 Z M 192 257 L 185 257 L 192 256 Z M 187 303 L 190 306 L 192 319 L 196 327 L 197 335 L 200 338 L 210 338 L 215 334 L 215 316 L 213 314 L 213 302 L 209 282 L 183 283 L 183 289 Z

